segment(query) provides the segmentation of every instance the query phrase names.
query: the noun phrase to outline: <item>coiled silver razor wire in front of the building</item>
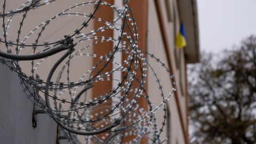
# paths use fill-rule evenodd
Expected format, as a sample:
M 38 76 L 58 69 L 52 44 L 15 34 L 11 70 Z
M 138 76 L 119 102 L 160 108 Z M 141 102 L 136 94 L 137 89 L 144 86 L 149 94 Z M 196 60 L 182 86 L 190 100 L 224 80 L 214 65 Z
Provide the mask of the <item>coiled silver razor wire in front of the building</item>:
M 143 137 L 149 143 L 163 143 L 165 140 L 161 140 L 160 135 L 167 121 L 166 101 L 174 94 L 175 82 L 171 71 L 160 59 L 139 49 L 138 31 L 129 1 L 124 1 L 124 6 L 121 8 L 101 0 L 81 2 L 69 6 L 43 22 L 38 22 L 38 25 L 34 22 L 34 28 L 25 28 L 24 23 L 30 16 L 30 11 L 45 9 L 46 6 L 57 5 L 58 2 L 29 0 L 21 4 L 18 9 L 6 10 L 9 5 L 4 0 L 3 11 L 0 13 L 3 26 L 1 30 L 3 38 L 0 38 L 0 61 L 18 74 L 28 98 L 62 127 L 71 143 L 78 141 L 140 143 Z M 89 14 L 73 12 L 84 6 L 93 6 L 94 9 Z M 113 9 L 118 17 L 111 21 L 98 18 L 96 13 L 101 7 Z M 50 39 L 51 42 L 42 40 L 51 24 L 61 17 L 70 17 L 69 19 L 83 17 L 86 20 L 80 27 L 74 29 L 73 33 L 59 36 L 55 41 Z M 20 19 L 20 22 L 12 23 L 13 19 Z M 116 25 L 120 20 L 122 25 Z M 93 25 L 92 21 L 98 21 L 102 26 L 91 29 L 89 26 Z M 27 29 L 31 30 L 24 35 Z M 9 35 L 13 35 L 16 30 L 18 33 L 14 42 Z M 118 31 L 118 38 L 104 36 L 107 30 Z M 34 42 L 27 43 L 33 41 L 32 38 L 35 39 Z M 116 44 L 112 51 L 103 55 L 89 51 L 95 49 L 95 45 L 108 42 Z M 117 53 L 123 54 L 121 63 L 114 59 Z M 84 70 L 82 66 L 79 67 L 81 63 L 76 61 L 79 58 L 97 61 L 91 68 Z M 44 64 L 45 61 L 52 62 L 49 66 L 47 63 Z M 164 85 L 157 75 L 158 70 L 155 70 L 156 65 L 151 64 L 150 61 L 157 63 L 157 66 L 169 76 L 171 81 L 171 87 L 167 87 L 169 93 L 164 92 Z M 31 62 L 31 71 L 27 70 L 29 62 Z M 45 74 L 45 65 L 51 68 L 48 74 Z M 74 68 L 74 66 L 78 67 Z M 74 78 L 71 77 L 76 77 L 72 72 L 79 69 L 81 69 L 79 78 L 72 82 L 71 79 Z M 122 79 L 115 78 L 113 76 L 115 73 L 121 73 Z M 145 88 L 148 74 L 152 74 L 155 78 L 161 103 L 155 103 L 152 99 L 156 95 L 149 95 Z M 95 85 L 105 81 L 115 81 L 117 85 L 99 95 L 92 95 L 91 91 Z M 139 99 L 145 100 L 148 108 L 138 104 Z M 162 125 L 158 125 L 158 117 L 155 115 L 161 108 L 163 108 Z M 84 140 L 79 140 L 78 135 L 84 135 Z

